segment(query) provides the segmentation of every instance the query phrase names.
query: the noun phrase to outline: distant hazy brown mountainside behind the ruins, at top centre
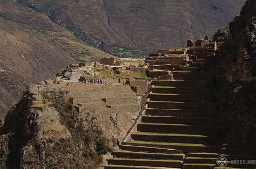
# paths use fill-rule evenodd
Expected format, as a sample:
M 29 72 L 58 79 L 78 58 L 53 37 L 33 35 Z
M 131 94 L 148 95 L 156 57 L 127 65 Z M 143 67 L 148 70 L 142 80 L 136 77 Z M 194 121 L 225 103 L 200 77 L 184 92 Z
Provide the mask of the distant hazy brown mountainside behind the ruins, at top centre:
M 54 22 L 103 50 L 143 54 L 159 48 L 185 46 L 185 39 L 212 36 L 239 14 L 245 0 L 20 2 L 47 13 Z

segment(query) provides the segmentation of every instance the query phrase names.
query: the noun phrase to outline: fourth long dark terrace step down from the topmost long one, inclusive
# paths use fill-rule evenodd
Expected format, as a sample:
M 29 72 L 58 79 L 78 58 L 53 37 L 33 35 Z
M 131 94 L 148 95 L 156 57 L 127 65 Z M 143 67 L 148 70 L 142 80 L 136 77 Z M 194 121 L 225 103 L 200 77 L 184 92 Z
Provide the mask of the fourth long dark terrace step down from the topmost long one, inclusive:
M 158 109 L 217 109 L 215 102 L 164 102 L 164 101 L 147 101 L 148 108 Z

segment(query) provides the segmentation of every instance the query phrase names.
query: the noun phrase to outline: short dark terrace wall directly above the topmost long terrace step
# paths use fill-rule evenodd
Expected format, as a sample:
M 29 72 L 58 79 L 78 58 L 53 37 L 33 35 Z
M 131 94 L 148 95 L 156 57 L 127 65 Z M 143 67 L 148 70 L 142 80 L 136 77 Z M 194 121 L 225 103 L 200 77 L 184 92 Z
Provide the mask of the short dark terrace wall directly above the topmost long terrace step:
M 211 73 L 209 72 L 178 72 L 178 71 L 173 72 L 174 80 L 200 81 L 200 80 L 208 80 L 210 78 L 211 78 Z

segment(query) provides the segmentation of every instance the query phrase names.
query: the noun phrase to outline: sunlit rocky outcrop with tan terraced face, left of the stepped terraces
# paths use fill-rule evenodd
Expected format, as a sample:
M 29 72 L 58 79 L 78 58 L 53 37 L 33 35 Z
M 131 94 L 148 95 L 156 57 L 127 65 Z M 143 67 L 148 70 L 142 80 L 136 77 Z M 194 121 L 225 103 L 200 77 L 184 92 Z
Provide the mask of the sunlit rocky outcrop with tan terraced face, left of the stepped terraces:
M 130 129 L 141 110 L 130 86 L 79 82 L 86 68 L 63 72 L 30 85 L 8 112 L 0 128 L 1 168 L 95 168 Z

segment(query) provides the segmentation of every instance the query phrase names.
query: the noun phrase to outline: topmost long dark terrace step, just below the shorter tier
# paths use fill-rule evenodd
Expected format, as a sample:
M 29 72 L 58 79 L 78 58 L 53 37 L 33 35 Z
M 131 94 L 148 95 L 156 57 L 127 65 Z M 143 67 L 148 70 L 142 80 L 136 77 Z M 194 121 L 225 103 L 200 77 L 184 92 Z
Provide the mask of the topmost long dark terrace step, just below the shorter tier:
M 210 86 L 208 81 L 170 81 L 170 80 L 156 80 L 153 81 L 154 86 L 169 86 L 169 87 L 191 87 L 191 86 L 196 86 L 198 88 L 205 88 Z

